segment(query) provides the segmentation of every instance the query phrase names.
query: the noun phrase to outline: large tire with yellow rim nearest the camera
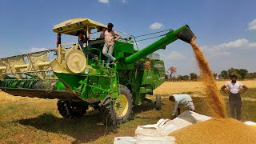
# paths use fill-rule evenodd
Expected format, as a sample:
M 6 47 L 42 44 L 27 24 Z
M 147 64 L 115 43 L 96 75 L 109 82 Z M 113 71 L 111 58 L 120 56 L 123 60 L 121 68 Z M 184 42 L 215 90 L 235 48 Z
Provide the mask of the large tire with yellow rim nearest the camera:
M 133 112 L 134 105 L 130 90 L 123 85 L 119 85 L 119 89 L 119 97 L 113 101 L 107 98 L 102 106 L 102 119 L 106 125 L 124 123 L 130 119 Z

